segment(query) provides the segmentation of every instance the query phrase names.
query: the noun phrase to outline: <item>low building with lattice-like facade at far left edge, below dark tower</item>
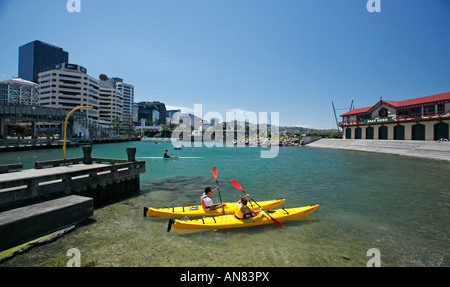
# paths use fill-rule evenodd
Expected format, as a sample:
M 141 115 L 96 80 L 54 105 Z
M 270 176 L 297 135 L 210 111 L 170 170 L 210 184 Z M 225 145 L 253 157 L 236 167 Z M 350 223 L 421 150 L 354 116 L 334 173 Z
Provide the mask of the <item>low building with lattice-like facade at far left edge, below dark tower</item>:
M 38 96 L 36 83 L 21 78 L 0 82 L 0 103 L 36 106 Z

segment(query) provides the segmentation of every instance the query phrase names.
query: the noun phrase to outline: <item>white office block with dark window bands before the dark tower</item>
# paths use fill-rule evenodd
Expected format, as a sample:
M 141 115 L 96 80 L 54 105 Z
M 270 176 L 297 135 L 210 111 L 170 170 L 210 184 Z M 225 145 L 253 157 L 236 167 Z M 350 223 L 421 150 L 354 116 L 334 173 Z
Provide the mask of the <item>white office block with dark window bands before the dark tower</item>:
M 70 111 L 79 106 L 93 106 L 80 112 L 89 121 L 99 120 L 100 80 L 89 76 L 79 65 L 62 63 L 39 74 L 39 104 Z

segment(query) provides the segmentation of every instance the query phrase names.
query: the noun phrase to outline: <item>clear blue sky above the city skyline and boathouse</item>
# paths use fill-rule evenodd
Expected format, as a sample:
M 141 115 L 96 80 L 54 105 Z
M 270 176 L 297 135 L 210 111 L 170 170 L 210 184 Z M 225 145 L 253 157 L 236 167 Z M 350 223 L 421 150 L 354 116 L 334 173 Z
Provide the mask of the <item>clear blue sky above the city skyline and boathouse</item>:
M 338 108 L 450 91 L 450 0 L 0 0 L 0 80 L 42 40 L 135 101 L 203 113 L 279 112 L 281 124 L 335 128 Z M 340 111 L 344 113 L 345 111 Z

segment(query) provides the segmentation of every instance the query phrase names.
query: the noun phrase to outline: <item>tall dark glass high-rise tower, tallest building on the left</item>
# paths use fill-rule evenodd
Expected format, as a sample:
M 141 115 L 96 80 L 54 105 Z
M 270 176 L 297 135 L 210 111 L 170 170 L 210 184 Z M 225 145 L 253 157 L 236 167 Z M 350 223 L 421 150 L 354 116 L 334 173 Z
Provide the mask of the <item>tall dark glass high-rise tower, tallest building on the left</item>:
M 19 78 L 37 83 L 39 73 L 68 62 L 69 53 L 62 48 L 33 41 L 19 47 Z

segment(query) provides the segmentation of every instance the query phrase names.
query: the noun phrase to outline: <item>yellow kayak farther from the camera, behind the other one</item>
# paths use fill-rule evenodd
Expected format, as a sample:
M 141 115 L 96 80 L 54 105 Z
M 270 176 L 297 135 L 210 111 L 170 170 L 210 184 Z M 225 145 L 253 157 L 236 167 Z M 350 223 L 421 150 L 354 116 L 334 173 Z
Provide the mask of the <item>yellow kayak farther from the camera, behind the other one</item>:
M 285 202 L 286 199 L 276 199 L 276 200 L 269 200 L 269 201 L 261 201 L 258 202 L 259 205 L 261 205 L 264 209 L 273 209 L 280 206 L 283 202 Z M 225 214 L 234 214 L 234 211 L 236 209 L 236 202 L 233 203 L 224 203 L 225 207 Z M 253 206 L 250 205 L 250 202 L 248 206 L 251 209 L 258 210 L 259 207 L 253 203 Z M 146 208 L 144 207 L 144 216 L 217 216 L 217 215 L 223 215 L 222 208 L 216 209 L 216 210 L 204 210 L 201 205 L 194 205 L 194 206 L 185 206 L 185 207 L 165 207 L 165 208 Z

